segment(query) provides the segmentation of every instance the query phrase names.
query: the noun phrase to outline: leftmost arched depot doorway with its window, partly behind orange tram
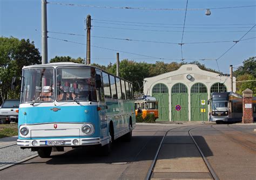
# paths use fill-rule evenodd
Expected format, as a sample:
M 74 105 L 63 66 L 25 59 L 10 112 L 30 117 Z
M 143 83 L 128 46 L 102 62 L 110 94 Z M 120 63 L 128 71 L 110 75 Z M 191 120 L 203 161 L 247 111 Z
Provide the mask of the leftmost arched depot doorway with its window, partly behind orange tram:
M 169 91 L 167 86 L 161 83 L 154 85 L 152 96 L 158 100 L 157 121 L 169 121 Z

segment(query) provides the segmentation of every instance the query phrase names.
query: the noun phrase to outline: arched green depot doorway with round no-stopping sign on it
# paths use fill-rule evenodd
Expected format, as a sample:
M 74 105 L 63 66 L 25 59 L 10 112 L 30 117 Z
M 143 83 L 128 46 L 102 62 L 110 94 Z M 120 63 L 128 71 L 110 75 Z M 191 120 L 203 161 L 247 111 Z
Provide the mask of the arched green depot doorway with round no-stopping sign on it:
M 188 121 L 188 93 L 186 85 L 182 83 L 173 85 L 171 99 L 172 121 Z M 178 110 L 179 106 L 181 107 L 180 110 Z

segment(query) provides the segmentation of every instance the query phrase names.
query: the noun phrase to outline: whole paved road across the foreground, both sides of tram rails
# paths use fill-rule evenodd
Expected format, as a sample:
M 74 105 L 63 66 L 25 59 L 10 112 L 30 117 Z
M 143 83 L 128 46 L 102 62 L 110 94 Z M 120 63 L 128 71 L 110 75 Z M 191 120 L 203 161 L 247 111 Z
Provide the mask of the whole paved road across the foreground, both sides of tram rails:
M 153 178 L 211 178 L 187 137 L 187 130 L 197 127 L 192 134 L 220 179 L 256 179 L 256 124 L 214 123 L 138 124 L 132 141 L 114 143 L 110 156 L 67 148 L 51 158 L 36 157 L 2 170 L 0 179 L 144 179 L 165 131 L 176 127 L 182 130 L 167 134 Z

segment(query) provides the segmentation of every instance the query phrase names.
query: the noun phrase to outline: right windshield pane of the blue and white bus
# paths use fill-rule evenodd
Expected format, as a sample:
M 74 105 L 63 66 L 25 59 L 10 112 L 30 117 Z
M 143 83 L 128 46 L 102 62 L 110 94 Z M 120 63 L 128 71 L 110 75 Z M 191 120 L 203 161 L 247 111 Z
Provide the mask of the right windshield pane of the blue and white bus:
M 95 68 L 57 68 L 57 101 L 97 101 Z

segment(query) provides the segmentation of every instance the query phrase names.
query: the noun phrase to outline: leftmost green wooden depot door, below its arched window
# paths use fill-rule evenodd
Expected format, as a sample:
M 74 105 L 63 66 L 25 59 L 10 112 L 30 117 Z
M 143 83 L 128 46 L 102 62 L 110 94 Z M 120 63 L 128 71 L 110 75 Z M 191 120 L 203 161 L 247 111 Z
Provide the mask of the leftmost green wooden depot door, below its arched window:
M 158 119 L 156 121 L 169 121 L 169 94 L 152 94 L 158 100 Z

